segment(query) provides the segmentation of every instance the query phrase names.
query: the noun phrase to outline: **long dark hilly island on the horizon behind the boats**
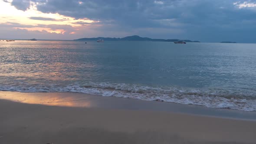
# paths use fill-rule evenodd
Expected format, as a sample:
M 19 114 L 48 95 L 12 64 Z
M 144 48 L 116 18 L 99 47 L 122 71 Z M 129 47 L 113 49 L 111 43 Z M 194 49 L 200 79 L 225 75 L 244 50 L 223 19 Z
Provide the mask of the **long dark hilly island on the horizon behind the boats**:
M 74 39 L 74 40 L 85 41 L 85 40 L 97 40 L 97 39 L 104 39 L 104 41 L 154 41 L 154 42 L 177 42 L 178 40 L 182 40 L 182 39 L 151 39 L 148 37 L 140 37 L 140 36 L 126 36 L 124 38 L 96 37 L 96 38 L 82 38 L 82 39 Z M 186 39 L 184 41 L 200 43 L 199 41 L 191 41 Z

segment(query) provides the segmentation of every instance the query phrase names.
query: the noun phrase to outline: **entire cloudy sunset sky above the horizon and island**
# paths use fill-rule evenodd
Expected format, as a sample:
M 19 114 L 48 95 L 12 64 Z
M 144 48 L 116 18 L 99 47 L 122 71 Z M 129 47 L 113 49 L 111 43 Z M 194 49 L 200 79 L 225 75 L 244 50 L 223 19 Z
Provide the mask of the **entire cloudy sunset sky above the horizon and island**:
M 0 39 L 256 43 L 256 0 L 0 0 Z

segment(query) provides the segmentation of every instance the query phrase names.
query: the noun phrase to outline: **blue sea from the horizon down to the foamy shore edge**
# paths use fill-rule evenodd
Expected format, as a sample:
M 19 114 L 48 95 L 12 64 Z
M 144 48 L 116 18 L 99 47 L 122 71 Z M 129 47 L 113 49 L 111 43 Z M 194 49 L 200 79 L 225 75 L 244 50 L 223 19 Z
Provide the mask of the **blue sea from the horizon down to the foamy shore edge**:
M 0 41 L 0 90 L 256 111 L 256 44 Z

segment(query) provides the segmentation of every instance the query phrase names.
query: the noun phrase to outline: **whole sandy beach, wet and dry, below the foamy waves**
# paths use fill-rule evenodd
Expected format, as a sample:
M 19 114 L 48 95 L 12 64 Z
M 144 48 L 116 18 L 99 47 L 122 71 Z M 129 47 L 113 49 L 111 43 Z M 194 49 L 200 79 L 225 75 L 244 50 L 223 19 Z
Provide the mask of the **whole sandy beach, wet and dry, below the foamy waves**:
M 256 141 L 253 119 L 217 118 L 191 111 L 255 116 L 252 112 L 72 92 L 0 91 L 0 143 L 254 144 Z

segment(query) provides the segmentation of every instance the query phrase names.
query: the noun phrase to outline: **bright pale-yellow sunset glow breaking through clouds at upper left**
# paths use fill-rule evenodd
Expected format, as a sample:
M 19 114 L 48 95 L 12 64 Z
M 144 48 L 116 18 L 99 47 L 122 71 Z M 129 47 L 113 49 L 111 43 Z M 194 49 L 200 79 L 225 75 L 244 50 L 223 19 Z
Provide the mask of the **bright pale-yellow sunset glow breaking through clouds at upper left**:
M 9 0 L 9 2 L 11 2 Z M 11 3 L 0 0 L 0 25 L 6 25 L 13 29 L 26 29 L 28 31 L 46 31 L 48 33 L 64 34 L 69 27 L 69 34 L 74 34 L 82 26 L 90 26 L 92 23 L 99 21 L 89 20 L 88 18 L 75 19 L 69 16 L 63 16 L 58 13 L 42 13 L 36 9 L 39 3 L 32 3 L 30 9 L 23 11 L 17 10 Z M 79 4 L 82 2 L 79 1 Z M 60 28 L 52 28 L 51 26 Z

